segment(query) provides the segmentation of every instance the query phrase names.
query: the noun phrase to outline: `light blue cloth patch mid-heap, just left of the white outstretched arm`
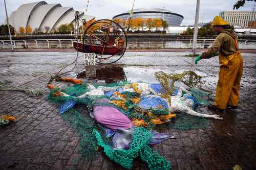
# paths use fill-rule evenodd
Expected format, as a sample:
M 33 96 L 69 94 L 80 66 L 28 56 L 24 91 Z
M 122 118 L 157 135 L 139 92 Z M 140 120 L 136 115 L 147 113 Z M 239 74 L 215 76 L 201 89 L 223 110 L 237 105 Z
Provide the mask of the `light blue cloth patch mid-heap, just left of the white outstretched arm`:
M 143 109 L 158 108 L 159 105 L 162 105 L 163 108 L 168 108 L 168 104 L 165 99 L 159 98 L 155 95 L 144 95 L 138 103 L 138 106 Z

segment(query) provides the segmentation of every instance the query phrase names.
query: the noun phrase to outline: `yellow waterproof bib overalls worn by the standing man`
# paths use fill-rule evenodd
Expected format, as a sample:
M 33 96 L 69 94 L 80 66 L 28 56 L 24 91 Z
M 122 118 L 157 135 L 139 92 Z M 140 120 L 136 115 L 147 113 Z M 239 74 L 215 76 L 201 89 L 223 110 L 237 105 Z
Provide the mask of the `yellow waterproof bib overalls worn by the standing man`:
M 220 72 L 214 105 L 220 109 L 225 109 L 227 104 L 238 105 L 243 58 L 238 49 L 237 38 L 233 40 L 237 52 L 230 56 L 219 54 Z

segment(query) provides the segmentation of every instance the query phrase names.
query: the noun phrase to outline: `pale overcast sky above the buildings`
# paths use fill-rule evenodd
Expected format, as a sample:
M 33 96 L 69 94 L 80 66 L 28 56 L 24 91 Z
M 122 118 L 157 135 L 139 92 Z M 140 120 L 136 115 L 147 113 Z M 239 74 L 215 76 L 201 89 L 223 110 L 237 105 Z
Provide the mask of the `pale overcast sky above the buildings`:
M 238 0 L 201 0 L 199 22 L 211 21 L 220 11 L 232 11 Z M 6 0 L 8 15 L 17 10 L 20 5 L 38 2 L 35 0 Z M 73 7 L 74 10 L 84 11 L 87 0 L 49 0 L 48 4 L 61 4 L 62 7 Z M 184 19 L 181 25 L 193 25 L 196 13 L 197 0 L 135 0 L 136 8 L 163 8 L 181 14 Z M 239 11 L 252 11 L 254 1 L 246 2 Z M 112 18 L 113 16 L 132 9 L 133 0 L 90 0 L 87 14 L 96 16 L 96 19 Z M 0 24 L 6 18 L 4 1 L 0 1 Z

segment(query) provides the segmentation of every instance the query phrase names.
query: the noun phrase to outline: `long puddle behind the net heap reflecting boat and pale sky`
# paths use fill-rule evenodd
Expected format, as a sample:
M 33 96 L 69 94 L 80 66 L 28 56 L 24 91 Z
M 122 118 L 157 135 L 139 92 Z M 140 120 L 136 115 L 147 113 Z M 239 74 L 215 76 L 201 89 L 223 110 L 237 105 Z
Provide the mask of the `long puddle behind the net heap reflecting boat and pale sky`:
M 155 78 L 155 72 L 163 71 L 166 74 L 181 74 L 185 69 L 175 69 L 172 70 L 169 67 L 156 68 L 156 67 L 138 67 L 138 66 L 120 66 L 120 65 L 94 65 L 86 66 L 86 69 L 81 71 L 76 78 L 79 79 L 89 79 L 96 80 L 98 82 L 113 83 L 120 81 L 129 82 L 148 82 L 148 83 L 158 83 Z M 209 85 L 213 85 L 218 78 L 208 77 L 204 72 L 194 70 L 197 75 L 205 78 L 204 81 L 208 82 Z M 215 80 L 216 79 L 216 80 Z M 175 82 L 176 86 L 183 86 L 182 82 Z M 207 88 L 205 88 L 207 89 Z

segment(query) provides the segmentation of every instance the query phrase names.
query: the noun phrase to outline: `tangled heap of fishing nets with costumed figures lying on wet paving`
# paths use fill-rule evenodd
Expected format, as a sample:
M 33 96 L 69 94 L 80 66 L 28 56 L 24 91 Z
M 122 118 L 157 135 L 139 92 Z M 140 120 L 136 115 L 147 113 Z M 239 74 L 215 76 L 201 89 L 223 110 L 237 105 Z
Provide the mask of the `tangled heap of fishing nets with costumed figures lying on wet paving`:
M 157 126 L 168 123 L 170 128 L 188 130 L 204 128 L 208 122 L 204 117 L 182 113 L 177 116 L 171 109 L 174 98 L 169 96 L 176 96 L 182 103 L 177 107 L 193 110 L 198 105 L 207 106 L 209 93 L 192 87 L 201 79 L 193 72 L 176 76 L 157 72 L 156 78 L 160 84 L 119 82 L 99 86 L 80 82 L 63 88 L 48 85 L 52 89 L 48 99 L 58 104 L 60 115 L 76 129 L 79 151 L 85 158 L 93 159 L 96 151 L 103 149 L 111 160 L 127 169 L 132 168 L 138 156 L 150 169 L 170 169 L 170 162 L 149 147 L 174 138 L 156 132 Z M 190 81 L 191 88 L 175 87 L 176 81 Z

